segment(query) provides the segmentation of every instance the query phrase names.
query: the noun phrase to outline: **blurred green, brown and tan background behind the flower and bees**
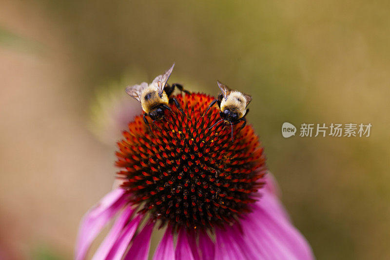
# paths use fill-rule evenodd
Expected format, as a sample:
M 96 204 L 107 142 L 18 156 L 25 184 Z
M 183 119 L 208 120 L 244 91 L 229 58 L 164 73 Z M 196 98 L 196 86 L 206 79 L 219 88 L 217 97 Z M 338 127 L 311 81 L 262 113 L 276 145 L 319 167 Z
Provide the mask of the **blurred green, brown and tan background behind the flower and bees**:
M 321 259 L 390 259 L 387 0 L 0 0 L 0 259 L 71 259 L 112 187 L 127 84 L 254 96 L 248 115 Z M 121 110 L 127 106 L 128 109 Z M 123 113 L 123 111 L 127 111 Z M 283 122 L 371 123 L 284 139 Z

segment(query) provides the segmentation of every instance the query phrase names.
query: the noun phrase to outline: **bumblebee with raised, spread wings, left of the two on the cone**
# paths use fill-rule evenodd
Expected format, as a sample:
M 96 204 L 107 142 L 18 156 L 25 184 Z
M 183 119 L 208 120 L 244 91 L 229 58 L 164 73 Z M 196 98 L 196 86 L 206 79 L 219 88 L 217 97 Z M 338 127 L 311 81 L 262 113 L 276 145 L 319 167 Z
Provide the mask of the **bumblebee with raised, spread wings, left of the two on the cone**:
M 174 102 L 177 109 L 183 115 L 185 115 L 178 101 L 170 96 L 174 92 L 175 87 L 177 87 L 180 91 L 184 91 L 186 93 L 190 92 L 184 90 L 183 86 L 180 84 L 174 83 L 172 84 L 172 86 L 167 84 L 167 81 L 171 76 L 174 66 L 175 63 L 170 69 L 165 71 L 164 74 L 158 75 L 150 84 L 142 82 L 139 85 L 126 87 L 126 93 L 141 103 L 142 109 L 143 111 L 145 111 L 145 114 L 143 115 L 143 120 L 147 125 L 149 125 L 149 122 L 146 119 L 146 116 L 149 116 L 153 120 L 153 124 L 157 127 L 155 121 L 165 118 L 164 113 L 166 109 L 173 113 L 172 109 L 169 106 L 169 104 L 172 102 Z

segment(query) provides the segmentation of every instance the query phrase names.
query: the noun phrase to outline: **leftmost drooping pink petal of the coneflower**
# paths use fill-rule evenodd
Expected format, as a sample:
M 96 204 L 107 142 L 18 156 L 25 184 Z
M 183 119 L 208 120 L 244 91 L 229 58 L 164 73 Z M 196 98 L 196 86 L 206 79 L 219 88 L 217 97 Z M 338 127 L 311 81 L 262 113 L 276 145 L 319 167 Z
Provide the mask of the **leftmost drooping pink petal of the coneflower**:
M 76 260 L 85 259 L 93 240 L 126 202 L 123 200 L 123 195 L 123 189 L 113 190 L 100 200 L 97 206 L 85 214 L 78 230 Z

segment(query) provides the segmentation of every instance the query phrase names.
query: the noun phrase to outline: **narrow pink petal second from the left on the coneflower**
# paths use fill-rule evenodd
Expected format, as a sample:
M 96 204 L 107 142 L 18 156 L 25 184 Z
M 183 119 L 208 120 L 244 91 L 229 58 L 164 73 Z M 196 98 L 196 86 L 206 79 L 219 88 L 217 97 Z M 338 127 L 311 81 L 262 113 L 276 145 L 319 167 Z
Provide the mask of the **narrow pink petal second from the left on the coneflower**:
M 115 221 L 114 226 L 107 234 L 106 238 L 100 244 L 92 260 L 101 260 L 107 257 L 108 253 L 110 252 L 111 248 L 113 247 L 114 243 L 117 241 L 120 233 L 122 232 L 123 227 L 130 219 L 132 213 L 133 213 L 133 209 L 130 206 L 126 207 L 123 210 L 123 212 Z

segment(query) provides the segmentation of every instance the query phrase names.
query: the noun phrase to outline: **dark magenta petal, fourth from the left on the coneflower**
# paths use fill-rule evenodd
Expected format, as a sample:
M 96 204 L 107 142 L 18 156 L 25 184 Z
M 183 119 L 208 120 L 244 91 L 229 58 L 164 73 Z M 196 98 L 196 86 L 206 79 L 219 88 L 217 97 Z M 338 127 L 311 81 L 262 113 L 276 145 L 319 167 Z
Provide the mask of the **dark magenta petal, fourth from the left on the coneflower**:
M 124 260 L 147 260 L 149 256 L 150 240 L 153 224 L 147 224 L 134 238 L 133 245 L 127 252 Z

